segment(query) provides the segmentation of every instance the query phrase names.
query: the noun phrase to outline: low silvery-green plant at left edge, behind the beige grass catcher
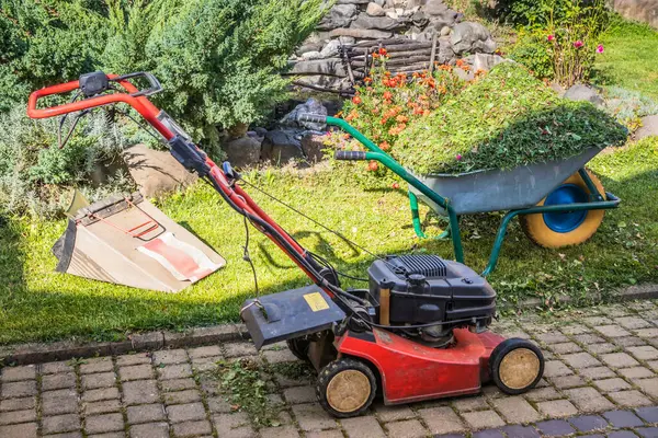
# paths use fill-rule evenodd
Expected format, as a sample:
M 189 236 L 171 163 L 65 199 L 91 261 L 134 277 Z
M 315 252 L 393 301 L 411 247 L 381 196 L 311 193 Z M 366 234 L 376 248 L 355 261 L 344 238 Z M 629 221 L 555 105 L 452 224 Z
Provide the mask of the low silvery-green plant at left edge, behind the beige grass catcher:
M 57 147 L 57 125 L 56 119 L 30 119 L 24 105 L 0 114 L 0 212 L 53 216 L 65 208 L 71 187 L 90 200 L 132 188 L 121 172 L 104 188 L 90 182 L 101 163 L 121 160 L 129 145 L 104 114 L 82 120 L 63 149 Z

